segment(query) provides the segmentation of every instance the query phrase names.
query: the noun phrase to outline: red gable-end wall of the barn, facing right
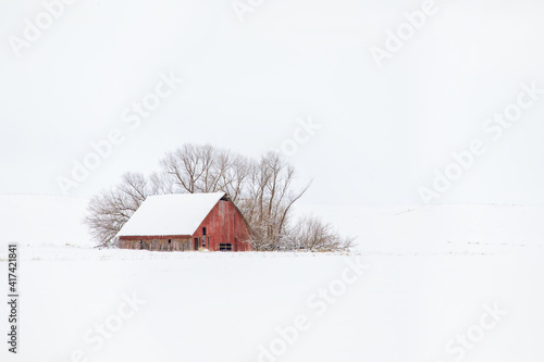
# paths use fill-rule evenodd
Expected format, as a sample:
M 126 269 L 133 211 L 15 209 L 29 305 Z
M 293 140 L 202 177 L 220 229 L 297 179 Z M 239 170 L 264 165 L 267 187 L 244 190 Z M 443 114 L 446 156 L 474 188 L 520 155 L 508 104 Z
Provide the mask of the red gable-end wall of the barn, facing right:
M 232 244 L 233 251 L 250 251 L 249 227 L 231 201 L 219 201 L 193 235 L 202 242 L 202 228 L 206 227 L 206 247 L 219 251 L 220 244 Z

